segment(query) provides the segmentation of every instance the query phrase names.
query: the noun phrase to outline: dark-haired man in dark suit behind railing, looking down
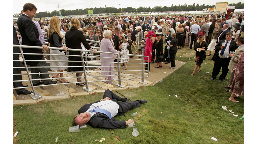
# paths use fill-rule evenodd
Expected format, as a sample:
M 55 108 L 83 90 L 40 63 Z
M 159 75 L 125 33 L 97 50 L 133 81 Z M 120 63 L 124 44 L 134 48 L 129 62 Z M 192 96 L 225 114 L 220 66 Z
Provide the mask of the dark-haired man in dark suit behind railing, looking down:
M 32 3 L 26 3 L 23 6 L 24 13 L 18 18 L 18 27 L 20 30 L 20 34 L 22 36 L 22 45 L 29 45 L 29 46 L 41 46 L 44 50 L 48 50 L 49 47 L 44 45 L 39 40 L 38 29 L 35 23 L 32 21 L 32 18 L 35 16 L 37 8 Z M 24 53 L 39 53 L 43 54 L 41 49 L 36 48 L 22 48 Z M 24 55 L 25 60 L 44 60 L 43 55 Z M 32 73 L 47 73 L 48 69 L 46 67 L 45 61 L 29 61 L 26 62 L 27 65 L 30 66 L 39 66 L 42 68 L 31 68 Z M 43 78 L 50 78 L 49 74 L 41 74 Z M 38 74 L 33 74 L 32 79 L 38 79 Z M 40 82 L 39 80 L 33 81 L 33 85 L 41 85 L 41 84 L 56 84 L 57 81 L 51 80 L 43 80 Z

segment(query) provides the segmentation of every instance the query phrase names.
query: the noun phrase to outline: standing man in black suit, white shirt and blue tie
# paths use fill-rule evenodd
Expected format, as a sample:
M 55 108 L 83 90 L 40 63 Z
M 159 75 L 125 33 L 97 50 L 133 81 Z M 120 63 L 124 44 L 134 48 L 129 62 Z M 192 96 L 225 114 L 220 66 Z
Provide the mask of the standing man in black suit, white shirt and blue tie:
M 218 76 L 220 69 L 222 68 L 222 73 L 219 76 L 219 82 L 222 82 L 223 79 L 228 74 L 228 65 L 231 59 L 230 51 L 235 51 L 238 47 L 236 45 L 236 41 L 232 40 L 232 32 L 228 32 L 226 34 L 225 40 L 220 40 L 218 44 L 215 46 L 216 56 L 214 58 L 214 65 L 212 71 L 212 78 L 210 80 L 216 79 Z M 224 45 L 222 43 L 225 43 Z

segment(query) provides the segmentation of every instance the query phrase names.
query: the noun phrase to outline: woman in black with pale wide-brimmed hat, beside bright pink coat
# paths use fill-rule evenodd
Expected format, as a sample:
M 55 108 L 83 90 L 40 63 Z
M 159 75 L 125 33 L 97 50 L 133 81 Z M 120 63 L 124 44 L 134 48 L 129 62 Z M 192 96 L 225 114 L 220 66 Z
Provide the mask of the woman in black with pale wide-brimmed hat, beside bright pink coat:
M 156 33 L 156 60 L 155 62 L 157 63 L 157 66 L 155 68 L 160 68 L 162 67 L 162 61 L 159 59 L 159 56 L 163 55 L 163 47 L 164 47 L 164 41 L 162 39 L 162 36 L 164 36 L 164 34 L 162 32 L 157 32 Z

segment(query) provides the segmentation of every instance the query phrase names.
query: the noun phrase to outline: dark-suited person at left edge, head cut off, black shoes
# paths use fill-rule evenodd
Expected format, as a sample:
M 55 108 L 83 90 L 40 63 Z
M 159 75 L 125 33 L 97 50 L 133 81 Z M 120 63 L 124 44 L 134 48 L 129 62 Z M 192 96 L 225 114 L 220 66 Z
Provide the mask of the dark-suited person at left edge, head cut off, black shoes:
M 19 43 L 19 40 L 18 40 L 18 37 L 17 37 L 17 32 L 16 32 L 16 29 L 14 28 L 14 26 L 12 26 L 13 29 L 12 29 L 12 44 L 15 44 L 15 45 L 20 45 Z M 12 47 L 12 51 L 14 53 L 20 53 L 20 48 L 19 47 Z M 20 60 L 20 57 L 19 55 L 17 54 L 13 54 L 12 55 L 12 59 L 13 60 Z M 12 66 L 13 67 L 20 67 L 20 62 L 17 62 L 17 61 L 13 61 L 12 62 Z M 12 69 L 12 73 L 13 74 L 21 74 L 21 70 L 20 69 Z M 12 76 L 12 80 L 22 80 L 22 76 L 21 75 L 13 75 Z M 27 87 L 28 85 L 23 85 L 22 82 L 13 82 L 12 85 L 16 88 L 16 87 Z M 24 88 L 21 88 L 21 89 L 15 89 L 16 93 L 19 95 L 19 94 L 31 94 L 33 93 L 32 91 L 28 91 Z

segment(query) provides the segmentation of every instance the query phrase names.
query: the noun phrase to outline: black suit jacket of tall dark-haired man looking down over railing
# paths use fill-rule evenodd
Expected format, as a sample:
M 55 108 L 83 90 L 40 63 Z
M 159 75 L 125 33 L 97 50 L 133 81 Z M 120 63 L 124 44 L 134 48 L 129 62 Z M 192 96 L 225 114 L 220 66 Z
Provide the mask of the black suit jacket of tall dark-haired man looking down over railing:
M 22 45 L 42 46 L 35 23 L 25 14 L 18 18 L 18 27 L 22 36 Z M 42 49 L 22 48 L 24 53 L 43 53 Z M 43 55 L 24 55 L 25 60 L 42 60 Z M 39 62 L 26 62 L 27 65 L 36 66 Z

